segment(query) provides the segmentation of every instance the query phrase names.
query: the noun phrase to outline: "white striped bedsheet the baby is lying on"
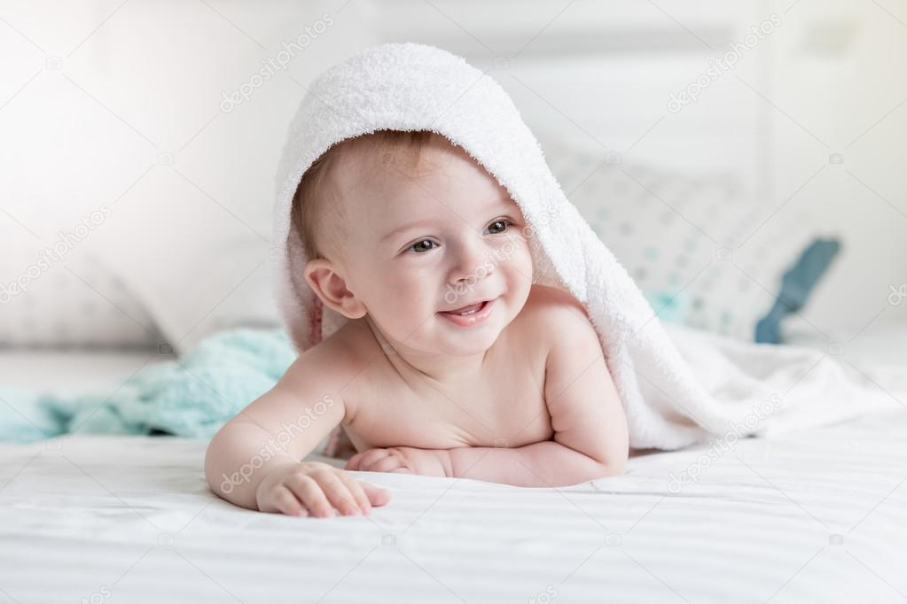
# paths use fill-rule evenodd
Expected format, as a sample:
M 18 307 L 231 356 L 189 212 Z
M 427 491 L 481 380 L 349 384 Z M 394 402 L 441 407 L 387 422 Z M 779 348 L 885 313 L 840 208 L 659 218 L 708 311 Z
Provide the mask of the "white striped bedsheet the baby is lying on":
M 204 440 L 3 444 L 0 601 L 902 602 L 902 336 L 848 349 L 892 398 L 857 421 L 640 452 L 626 475 L 556 489 L 356 473 L 393 492 L 370 517 L 226 503 L 205 483 Z M 112 387 L 147 360 L 5 352 L 0 380 Z

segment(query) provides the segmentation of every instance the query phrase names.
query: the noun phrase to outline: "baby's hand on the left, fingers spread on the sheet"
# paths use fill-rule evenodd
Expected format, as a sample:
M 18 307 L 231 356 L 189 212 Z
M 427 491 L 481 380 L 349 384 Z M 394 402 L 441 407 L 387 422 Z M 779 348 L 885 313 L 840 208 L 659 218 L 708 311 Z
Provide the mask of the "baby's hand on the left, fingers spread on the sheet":
M 281 465 L 258 484 L 258 510 L 288 516 L 329 517 L 371 513 L 390 501 L 390 491 L 356 481 L 345 470 L 322 462 Z M 333 506 L 333 507 L 332 507 Z

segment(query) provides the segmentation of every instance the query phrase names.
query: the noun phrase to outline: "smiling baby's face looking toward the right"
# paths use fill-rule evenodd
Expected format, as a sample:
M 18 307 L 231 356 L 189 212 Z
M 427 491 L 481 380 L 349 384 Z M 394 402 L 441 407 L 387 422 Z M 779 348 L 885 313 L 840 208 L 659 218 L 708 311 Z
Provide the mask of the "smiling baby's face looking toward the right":
M 532 285 L 520 207 L 443 137 L 432 137 L 417 174 L 403 153 L 378 155 L 354 153 L 338 167 L 347 288 L 397 347 L 488 350 Z M 473 319 L 443 313 L 481 301 L 493 302 Z

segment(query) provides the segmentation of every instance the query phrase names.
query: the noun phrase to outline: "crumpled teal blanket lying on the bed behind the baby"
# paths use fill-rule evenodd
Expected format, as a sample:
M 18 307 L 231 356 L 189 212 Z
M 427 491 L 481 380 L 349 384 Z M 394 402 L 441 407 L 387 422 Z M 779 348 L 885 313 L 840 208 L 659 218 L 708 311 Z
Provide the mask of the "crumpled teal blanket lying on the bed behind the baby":
M 239 328 L 145 366 L 114 392 L 67 397 L 0 384 L 0 441 L 71 433 L 210 438 L 296 358 L 285 330 Z

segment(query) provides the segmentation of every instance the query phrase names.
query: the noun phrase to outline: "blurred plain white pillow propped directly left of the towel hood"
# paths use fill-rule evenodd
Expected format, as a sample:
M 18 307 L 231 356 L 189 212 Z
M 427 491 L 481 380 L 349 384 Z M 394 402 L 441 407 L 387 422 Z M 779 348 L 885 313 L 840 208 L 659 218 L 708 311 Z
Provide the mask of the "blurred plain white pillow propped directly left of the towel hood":
M 152 171 L 108 221 L 90 244 L 177 354 L 221 329 L 280 325 L 269 241 L 173 171 Z

